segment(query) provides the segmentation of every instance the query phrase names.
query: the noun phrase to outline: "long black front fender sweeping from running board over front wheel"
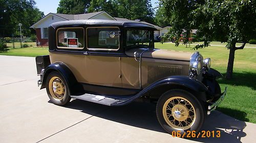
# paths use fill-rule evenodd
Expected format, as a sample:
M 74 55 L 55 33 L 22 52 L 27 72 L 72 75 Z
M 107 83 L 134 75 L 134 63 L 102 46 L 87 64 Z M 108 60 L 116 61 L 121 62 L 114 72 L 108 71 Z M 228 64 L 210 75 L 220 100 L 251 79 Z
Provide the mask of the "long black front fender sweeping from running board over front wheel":
M 161 87 L 164 87 L 164 89 L 162 89 Z M 158 98 L 159 98 L 164 92 L 170 89 L 176 89 L 176 88 L 189 90 L 193 92 L 193 94 L 197 98 L 206 102 L 205 93 L 207 92 L 208 88 L 202 82 L 194 78 L 190 78 L 188 76 L 169 76 L 157 82 L 152 83 L 151 85 L 141 90 L 138 94 L 136 94 L 136 96 L 130 98 L 129 100 L 115 103 L 112 106 L 129 104 L 135 99 L 145 96 L 146 94 L 149 94 L 152 91 L 158 91 Z

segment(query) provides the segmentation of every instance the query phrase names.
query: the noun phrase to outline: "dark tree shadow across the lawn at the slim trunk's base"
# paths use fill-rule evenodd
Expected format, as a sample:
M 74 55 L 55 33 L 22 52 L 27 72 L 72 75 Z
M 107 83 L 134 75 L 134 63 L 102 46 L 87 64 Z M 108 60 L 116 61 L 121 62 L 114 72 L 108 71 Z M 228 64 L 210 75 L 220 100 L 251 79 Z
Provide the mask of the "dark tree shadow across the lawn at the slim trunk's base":
M 256 74 L 243 71 L 242 73 L 233 73 L 232 79 L 225 79 L 226 73 L 223 73 L 223 78 L 218 79 L 219 84 L 247 86 L 256 90 Z M 249 79 L 249 80 L 248 80 Z

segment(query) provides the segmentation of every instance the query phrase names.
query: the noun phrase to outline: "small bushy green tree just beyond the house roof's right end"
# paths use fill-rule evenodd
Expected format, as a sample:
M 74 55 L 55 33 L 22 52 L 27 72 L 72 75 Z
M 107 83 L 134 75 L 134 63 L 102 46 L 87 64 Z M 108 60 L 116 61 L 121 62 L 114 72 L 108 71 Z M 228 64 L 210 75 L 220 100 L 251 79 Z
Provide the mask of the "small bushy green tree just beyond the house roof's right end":
M 154 21 L 155 21 L 156 25 L 158 25 L 162 28 L 170 25 L 169 19 L 165 16 L 164 9 L 162 6 L 158 7 Z

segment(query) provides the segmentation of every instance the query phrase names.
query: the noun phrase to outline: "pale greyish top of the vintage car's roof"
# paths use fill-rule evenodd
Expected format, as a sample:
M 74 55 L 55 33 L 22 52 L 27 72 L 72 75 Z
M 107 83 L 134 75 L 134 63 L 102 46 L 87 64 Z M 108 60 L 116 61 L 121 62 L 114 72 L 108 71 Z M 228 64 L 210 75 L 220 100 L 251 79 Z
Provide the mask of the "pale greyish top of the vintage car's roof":
M 143 27 L 156 30 L 155 27 L 151 25 L 147 25 L 145 23 L 139 21 L 120 21 L 120 20 L 104 20 L 104 19 L 85 19 L 85 20 L 67 20 L 54 22 L 50 25 L 54 29 L 59 26 L 67 26 L 67 25 L 113 25 L 113 26 L 123 26 L 125 28 L 132 27 Z

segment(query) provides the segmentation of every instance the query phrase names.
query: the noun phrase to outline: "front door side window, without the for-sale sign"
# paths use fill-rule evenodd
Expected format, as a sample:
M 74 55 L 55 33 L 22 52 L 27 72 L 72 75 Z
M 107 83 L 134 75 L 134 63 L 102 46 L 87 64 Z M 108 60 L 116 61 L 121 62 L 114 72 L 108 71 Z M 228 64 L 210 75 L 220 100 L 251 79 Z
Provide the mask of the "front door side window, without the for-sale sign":
M 87 28 L 87 48 L 117 51 L 119 49 L 119 28 Z

